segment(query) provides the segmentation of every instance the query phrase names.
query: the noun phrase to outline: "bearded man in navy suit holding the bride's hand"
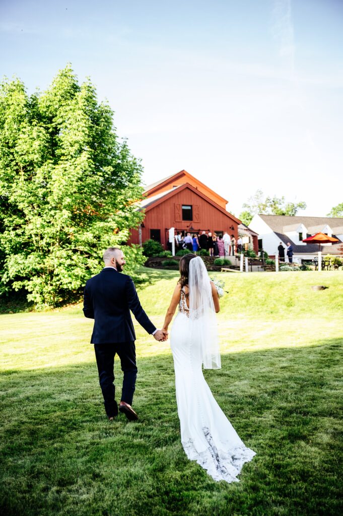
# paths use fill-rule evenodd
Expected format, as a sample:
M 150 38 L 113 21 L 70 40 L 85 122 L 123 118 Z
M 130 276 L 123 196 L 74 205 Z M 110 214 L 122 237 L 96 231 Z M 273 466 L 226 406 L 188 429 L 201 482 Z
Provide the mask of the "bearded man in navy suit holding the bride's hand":
M 115 400 L 115 379 L 113 368 L 117 353 L 124 373 L 122 397 L 119 411 L 130 420 L 138 415 L 132 408 L 137 377 L 135 330 L 130 310 L 139 324 L 156 341 L 164 341 L 168 332 L 157 330 L 139 302 L 132 279 L 120 274 L 125 265 L 123 252 L 117 247 L 109 247 L 103 255 L 105 267 L 87 281 L 84 293 L 84 314 L 94 319 L 91 343 L 94 344 L 99 381 L 109 420 L 118 415 Z

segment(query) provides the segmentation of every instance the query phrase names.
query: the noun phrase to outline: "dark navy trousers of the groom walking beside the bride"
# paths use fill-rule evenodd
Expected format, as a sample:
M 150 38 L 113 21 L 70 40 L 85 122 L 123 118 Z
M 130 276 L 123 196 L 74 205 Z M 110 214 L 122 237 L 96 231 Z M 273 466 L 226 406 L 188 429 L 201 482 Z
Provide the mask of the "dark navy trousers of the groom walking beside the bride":
M 94 350 L 105 411 L 108 417 L 114 417 L 118 414 L 116 389 L 113 384 L 115 356 L 117 353 L 124 373 L 121 401 L 132 405 L 137 378 L 135 341 L 94 344 Z

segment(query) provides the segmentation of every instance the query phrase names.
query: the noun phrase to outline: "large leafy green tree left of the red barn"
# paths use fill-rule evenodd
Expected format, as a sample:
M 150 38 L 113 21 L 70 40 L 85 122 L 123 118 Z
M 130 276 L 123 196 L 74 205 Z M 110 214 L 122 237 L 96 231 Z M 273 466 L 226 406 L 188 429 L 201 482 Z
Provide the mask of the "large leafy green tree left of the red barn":
M 70 66 L 44 92 L 19 79 L 0 86 L 2 292 L 26 289 L 57 305 L 99 270 L 101 252 L 127 240 L 141 214 L 141 165 L 120 140 L 113 112 Z M 137 249 L 126 254 L 140 260 Z M 132 261 L 133 262 L 133 261 Z M 1 291 L 0 291 L 1 292 Z

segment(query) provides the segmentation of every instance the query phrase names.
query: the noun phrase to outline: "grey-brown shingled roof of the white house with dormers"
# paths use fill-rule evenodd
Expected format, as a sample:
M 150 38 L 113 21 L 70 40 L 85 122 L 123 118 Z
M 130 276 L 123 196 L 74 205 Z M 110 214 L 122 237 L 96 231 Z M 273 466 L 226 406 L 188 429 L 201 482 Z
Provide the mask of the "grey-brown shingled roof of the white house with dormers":
M 342 223 L 342 217 L 301 217 L 301 216 L 290 216 L 290 215 L 262 215 L 259 214 L 259 217 L 262 218 L 266 224 L 269 225 L 270 229 L 273 230 L 277 238 L 280 238 L 285 245 L 287 242 L 290 242 L 293 247 L 293 251 L 295 253 L 317 253 L 318 252 L 318 244 L 306 244 L 306 246 L 299 246 L 292 242 L 291 238 L 285 235 L 285 228 L 293 227 L 298 228 L 302 223 L 305 228 L 309 230 L 309 228 L 320 226 L 323 228 L 326 224 L 330 225 L 333 231 L 335 228 L 340 229 Z M 288 231 L 291 231 L 288 229 Z M 340 234 L 339 232 L 336 232 Z M 334 236 L 334 235 L 333 235 Z M 339 247 L 342 245 L 342 242 L 339 241 L 337 244 L 332 244 L 331 246 L 322 246 L 321 249 L 324 253 L 334 253 L 340 254 L 341 250 Z

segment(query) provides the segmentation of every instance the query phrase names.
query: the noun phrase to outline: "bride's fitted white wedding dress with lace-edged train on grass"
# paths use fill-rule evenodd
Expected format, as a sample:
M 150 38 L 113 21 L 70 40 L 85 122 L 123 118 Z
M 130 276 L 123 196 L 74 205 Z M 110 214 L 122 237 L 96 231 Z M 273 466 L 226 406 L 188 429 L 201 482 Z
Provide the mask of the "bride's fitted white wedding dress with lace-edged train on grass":
M 214 480 L 238 482 L 237 475 L 244 462 L 249 462 L 255 452 L 240 440 L 213 397 L 202 372 L 203 325 L 201 319 L 195 325 L 190 322 L 182 289 L 179 311 L 171 329 L 182 445 L 187 457 L 196 460 Z

